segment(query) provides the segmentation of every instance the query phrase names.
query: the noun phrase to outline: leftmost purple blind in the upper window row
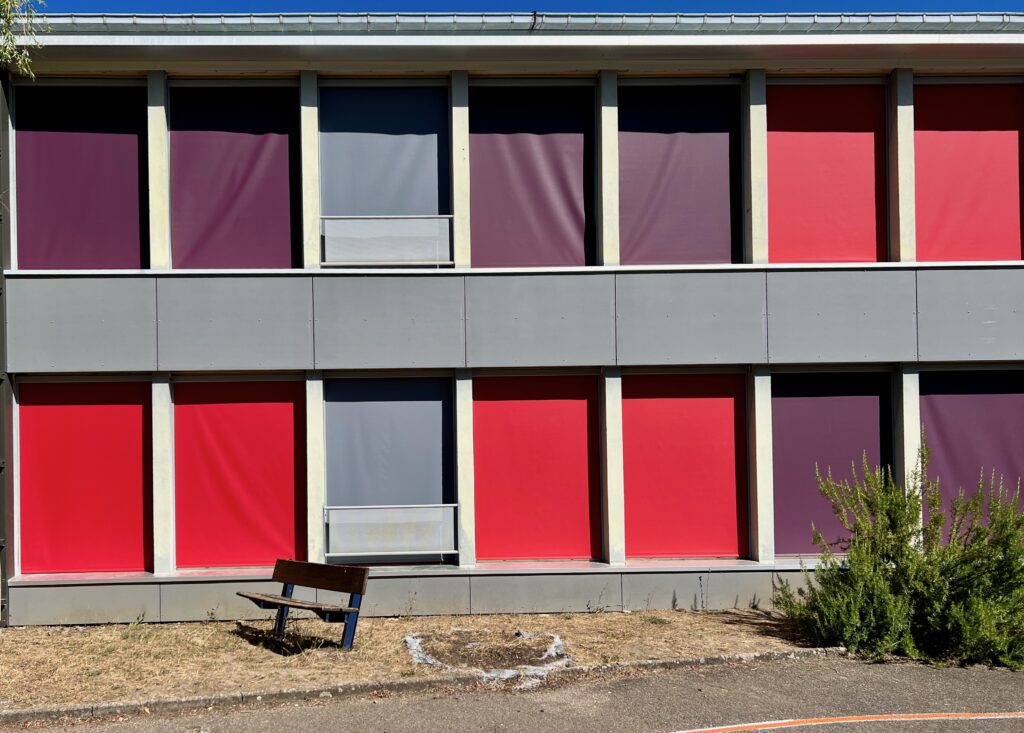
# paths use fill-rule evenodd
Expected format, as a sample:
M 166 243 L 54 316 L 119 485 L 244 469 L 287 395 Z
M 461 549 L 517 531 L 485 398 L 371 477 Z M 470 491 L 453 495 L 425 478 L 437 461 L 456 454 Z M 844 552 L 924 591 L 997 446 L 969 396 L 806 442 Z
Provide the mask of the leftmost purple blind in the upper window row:
M 15 96 L 18 267 L 147 267 L 145 89 Z

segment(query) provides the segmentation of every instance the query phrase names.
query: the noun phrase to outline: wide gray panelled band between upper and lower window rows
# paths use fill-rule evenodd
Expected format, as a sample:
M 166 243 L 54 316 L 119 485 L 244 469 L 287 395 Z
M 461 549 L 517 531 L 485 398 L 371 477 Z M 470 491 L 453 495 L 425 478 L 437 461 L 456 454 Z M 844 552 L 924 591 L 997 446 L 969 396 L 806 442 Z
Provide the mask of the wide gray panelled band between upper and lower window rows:
M 7 277 L 6 371 L 1015 360 L 1024 269 Z

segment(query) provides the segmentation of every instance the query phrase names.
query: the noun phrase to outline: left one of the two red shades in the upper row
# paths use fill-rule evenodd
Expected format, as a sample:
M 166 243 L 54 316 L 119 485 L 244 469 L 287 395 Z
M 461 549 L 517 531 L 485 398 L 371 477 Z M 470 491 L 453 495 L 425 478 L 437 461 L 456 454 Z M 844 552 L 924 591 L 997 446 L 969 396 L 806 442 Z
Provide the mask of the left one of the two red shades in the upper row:
M 886 260 L 886 87 L 768 86 L 768 259 Z

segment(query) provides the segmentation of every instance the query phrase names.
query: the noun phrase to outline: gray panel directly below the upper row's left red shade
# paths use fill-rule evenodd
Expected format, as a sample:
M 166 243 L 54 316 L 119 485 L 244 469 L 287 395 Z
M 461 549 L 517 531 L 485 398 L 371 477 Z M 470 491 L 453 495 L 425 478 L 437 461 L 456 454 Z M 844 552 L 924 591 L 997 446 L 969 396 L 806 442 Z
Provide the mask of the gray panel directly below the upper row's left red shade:
M 768 272 L 771 363 L 915 361 L 912 270 Z

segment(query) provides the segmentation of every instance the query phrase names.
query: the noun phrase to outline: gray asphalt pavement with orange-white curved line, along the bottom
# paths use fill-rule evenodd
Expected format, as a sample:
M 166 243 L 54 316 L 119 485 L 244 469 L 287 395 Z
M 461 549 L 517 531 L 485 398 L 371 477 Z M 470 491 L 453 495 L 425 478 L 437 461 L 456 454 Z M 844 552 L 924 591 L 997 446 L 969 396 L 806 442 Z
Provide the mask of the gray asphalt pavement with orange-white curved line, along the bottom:
M 842 658 L 800 659 L 564 682 L 531 692 L 459 691 L 338 699 L 167 718 L 153 716 L 121 723 L 84 723 L 68 730 L 654 733 L 780 719 L 937 712 L 1024 712 L 1024 673 L 935 670 Z M 790 730 L 1009 733 L 1024 731 L 1024 719 L 886 721 Z

